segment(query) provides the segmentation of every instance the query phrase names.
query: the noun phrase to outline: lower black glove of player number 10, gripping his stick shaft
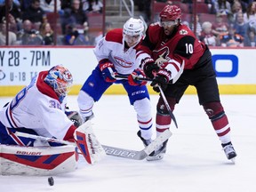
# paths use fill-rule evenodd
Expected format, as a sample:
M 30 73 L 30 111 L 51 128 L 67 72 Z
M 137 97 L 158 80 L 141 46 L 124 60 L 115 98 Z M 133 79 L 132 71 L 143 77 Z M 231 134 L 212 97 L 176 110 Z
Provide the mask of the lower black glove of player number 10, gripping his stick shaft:
M 165 68 L 161 68 L 156 73 L 152 83 L 150 84 L 153 86 L 153 90 L 155 92 L 160 92 L 158 85 L 161 86 L 162 90 L 166 90 L 169 81 L 171 80 L 172 73 Z

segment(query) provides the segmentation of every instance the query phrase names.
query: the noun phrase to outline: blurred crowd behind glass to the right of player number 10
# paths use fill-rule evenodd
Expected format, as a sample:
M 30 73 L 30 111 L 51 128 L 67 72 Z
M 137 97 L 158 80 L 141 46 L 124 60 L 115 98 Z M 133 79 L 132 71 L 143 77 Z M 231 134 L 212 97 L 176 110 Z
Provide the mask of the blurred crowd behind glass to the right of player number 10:
M 254 47 L 256 43 L 256 1 L 255 0 L 196 0 L 196 36 L 208 46 Z M 186 4 L 188 15 L 193 12 L 193 0 L 164 1 L 165 4 Z M 199 6 L 198 4 L 204 5 Z M 200 9 L 200 7 L 203 7 Z M 199 10 L 198 10 L 199 9 Z M 203 10 L 204 9 L 204 10 Z M 204 11 L 204 13 L 201 13 Z M 194 30 L 192 20 L 183 24 Z

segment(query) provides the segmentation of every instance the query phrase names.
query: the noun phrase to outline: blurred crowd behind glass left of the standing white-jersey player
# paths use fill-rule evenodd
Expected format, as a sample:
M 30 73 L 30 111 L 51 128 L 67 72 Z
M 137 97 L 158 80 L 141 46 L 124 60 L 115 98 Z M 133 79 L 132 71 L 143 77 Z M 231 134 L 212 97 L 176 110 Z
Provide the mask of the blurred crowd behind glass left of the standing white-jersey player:
M 53 45 L 54 33 L 56 44 L 92 45 L 88 14 L 102 7 L 99 0 L 0 0 L 0 45 L 7 32 L 10 45 Z

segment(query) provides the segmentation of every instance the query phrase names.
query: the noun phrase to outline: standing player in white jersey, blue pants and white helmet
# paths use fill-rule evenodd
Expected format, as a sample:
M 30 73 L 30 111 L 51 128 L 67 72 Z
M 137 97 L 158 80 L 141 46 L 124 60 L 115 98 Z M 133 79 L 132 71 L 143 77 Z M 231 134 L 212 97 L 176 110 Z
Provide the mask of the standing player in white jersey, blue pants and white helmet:
M 92 75 L 87 78 L 78 94 L 78 106 L 84 121 L 93 117 L 92 107 L 112 84 L 123 84 L 130 104 L 137 113 L 138 135 L 143 142 L 150 142 L 152 137 L 151 104 L 146 82 L 136 79 L 144 77 L 144 72 L 136 64 L 136 47 L 140 44 L 144 25 L 140 19 L 129 19 L 124 28 L 108 31 L 94 49 L 99 62 Z M 116 79 L 116 75 L 128 76 Z

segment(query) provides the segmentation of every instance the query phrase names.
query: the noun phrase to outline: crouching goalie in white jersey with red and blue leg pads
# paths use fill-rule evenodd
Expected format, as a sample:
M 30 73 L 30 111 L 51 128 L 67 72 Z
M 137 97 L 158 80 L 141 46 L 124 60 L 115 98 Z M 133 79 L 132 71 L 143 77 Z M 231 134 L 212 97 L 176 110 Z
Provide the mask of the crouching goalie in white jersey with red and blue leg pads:
M 89 164 L 94 163 L 90 153 L 91 143 L 86 143 L 87 135 L 85 131 L 88 131 L 90 126 L 82 124 L 76 128 L 76 126 L 82 123 L 79 116 L 77 116 L 78 113 L 67 112 L 66 110 L 66 96 L 72 84 L 73 77 L 68 68 L 59 65 L 51 68 L 49 71 L 41 71 L 32 79 L 28 86 L 24 87 L 10 103 L 7 103 L 0 110 L 0 158 L 4 158 L 2 162 L 11 161 L 12 164 L 19 164 L 19 166 L 22 164 L 22 166 L 49 171 L 50 167 L 52 169 L 52 166 L 55 167 L 62 164 L 68 160 L 69 156 L 76 156 L 75 147 L 69 148 L 68 151 L 64 150 L 65 152 L 61 153 L 56 148 L 59 146 L 65 148 L 62 144 L 35 140 L 34 137 L 29 137 L 29 135 L 37 135 L 45 138 L 70 141 L 70 144 L 73 142 L 73 146 L 77 145 L 86 161 Z M 76 121 L 76 126 L 72 119 Z M 25 133 L 27 136 L 19 136 L 19 132 Z M 91 131 L 90 134 L 92 135 Z M 80 137 L 81 135 L 82 137 Z M 83 139 L 83 136 L 85 139 Z M 75 141 L 76 144 L 74 143 Z M 99 144 L 97 140 L 95 142 L 97 145 Z M 22 156 L 12 154 L 10 152 L 12 148 L 9 148 L 10 151 L 8 152 L 6 146 L 19 146 L 14 149 L 14 153 Z M 50 146 L 56 148 L 54 149 Z M 31 151 L 28 147 L 36 148 L 36 152 Z M 45 148 L 49 153 L 45 154 L 42 147 L 49 147 Z M 54 150 L 54 152 L 51 153 L 51 150 Z M 36 154 L 38 156 L 35 156 Z M 26 157 L 23 157 L 23 155 L 26 155 Z M 57 158 L 57 155 L 62 156 L 60 156 L 58 161 L 56 160 L 57 162 L 54 162 L 53 159 Z M 35 158 L 42 156 L 45 158 L 44 164 L 42 164 L 42 161 L 35 162 Z M 52 160 L 46 161 L 47 156 L 52 156 Z M 33 158 L 34 160 L 32 160 Z M 4 169 L 3 166 L 2 169 Z

